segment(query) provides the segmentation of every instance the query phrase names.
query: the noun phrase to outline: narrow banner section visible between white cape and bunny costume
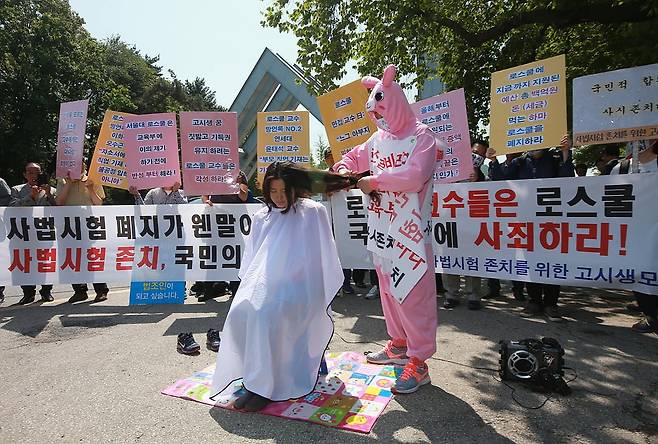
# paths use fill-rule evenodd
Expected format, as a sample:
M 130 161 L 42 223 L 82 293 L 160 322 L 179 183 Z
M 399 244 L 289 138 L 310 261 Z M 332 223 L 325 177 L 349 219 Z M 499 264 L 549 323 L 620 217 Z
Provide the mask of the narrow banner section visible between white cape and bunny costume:
M 368 244 L 367 200 L 361 190 L 341 191 L 331 196 L 334 233 L 343 268 L 372 269 Z

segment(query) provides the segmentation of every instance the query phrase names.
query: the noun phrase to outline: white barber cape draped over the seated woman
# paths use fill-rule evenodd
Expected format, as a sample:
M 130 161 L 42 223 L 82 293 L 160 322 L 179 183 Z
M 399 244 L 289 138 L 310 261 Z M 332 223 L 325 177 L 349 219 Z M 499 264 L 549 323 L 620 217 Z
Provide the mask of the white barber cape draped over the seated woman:
M 274 401 L 311 392 L 333 334 L 329 304 L 343 282 L 324 206 L 298 199 L 286 214 L 256 213 L 221 335 L 215 396 L 243 378 Z M 213 396 L 214 397 L 214 396 Z

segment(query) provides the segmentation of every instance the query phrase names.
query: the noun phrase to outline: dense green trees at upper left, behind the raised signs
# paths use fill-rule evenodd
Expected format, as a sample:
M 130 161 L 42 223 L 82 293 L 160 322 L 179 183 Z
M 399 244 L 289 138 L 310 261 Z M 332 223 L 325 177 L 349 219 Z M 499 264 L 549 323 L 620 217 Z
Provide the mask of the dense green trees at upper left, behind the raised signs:
M 87 153 L 108 108 L 224 110 L 204 79 L 165 76 L 158 57 L 118 36 L 100 42 L 83 24 L 66 0 L 0 1 L 0 177 L 10 184 L 23 180 L 28 161 L 54 169 L 61 102 L 89 99 Z

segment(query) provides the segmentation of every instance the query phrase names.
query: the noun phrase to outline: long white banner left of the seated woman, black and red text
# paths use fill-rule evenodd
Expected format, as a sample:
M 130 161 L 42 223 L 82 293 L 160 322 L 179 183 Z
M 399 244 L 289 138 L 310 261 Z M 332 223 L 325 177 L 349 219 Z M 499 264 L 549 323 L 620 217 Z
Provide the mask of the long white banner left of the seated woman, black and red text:
M 261 208 L 0 208 L 0 285 L 237 280 Z

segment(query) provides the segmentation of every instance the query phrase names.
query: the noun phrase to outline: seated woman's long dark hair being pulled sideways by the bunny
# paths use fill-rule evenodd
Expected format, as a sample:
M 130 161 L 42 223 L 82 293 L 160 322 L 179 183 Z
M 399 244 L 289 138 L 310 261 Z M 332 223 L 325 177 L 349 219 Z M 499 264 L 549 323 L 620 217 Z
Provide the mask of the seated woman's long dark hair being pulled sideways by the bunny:
M 283 180 L 286 185 L 288 206 L 283 213 L 290 211 L 298 197 L 317 193 L 333 193 L 352 188 L 359 181 L 354 174 L 337 174 L 331 171 L 306 168 L 292 162 L 274 162 L 267 167 L 263 178 L 263 198 L 267 207 L 272 210 L 274 202 L 270 197 L 271 184 L 275 179 Z

